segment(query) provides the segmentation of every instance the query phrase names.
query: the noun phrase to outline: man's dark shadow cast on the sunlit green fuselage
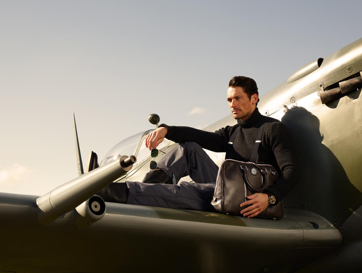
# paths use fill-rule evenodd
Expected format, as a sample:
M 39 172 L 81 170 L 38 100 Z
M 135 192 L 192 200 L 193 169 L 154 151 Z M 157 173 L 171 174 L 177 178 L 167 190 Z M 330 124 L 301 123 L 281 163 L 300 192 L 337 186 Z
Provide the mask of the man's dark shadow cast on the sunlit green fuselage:
M 340 226 L 362 204 L 362 193 L 331 150 L 321 142 L 319 119 L 303 107 L 288 109 L 281 121 L 294 136 L 300 182 L 283 200 L 285 207 L 303 208 Z

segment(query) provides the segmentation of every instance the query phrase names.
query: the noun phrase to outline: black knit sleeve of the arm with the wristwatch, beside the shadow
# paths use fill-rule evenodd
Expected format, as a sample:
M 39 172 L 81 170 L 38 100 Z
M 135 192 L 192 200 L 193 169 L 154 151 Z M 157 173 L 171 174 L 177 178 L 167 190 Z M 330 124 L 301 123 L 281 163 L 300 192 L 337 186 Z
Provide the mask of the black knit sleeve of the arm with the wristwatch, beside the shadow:
M 277 181 L 267 191 L 272 193 L 279 202 L 299 181 L 298 158 L 292 134 L 285 124 L 271 124 L 267 134 L 269 146 L 281 171 Z

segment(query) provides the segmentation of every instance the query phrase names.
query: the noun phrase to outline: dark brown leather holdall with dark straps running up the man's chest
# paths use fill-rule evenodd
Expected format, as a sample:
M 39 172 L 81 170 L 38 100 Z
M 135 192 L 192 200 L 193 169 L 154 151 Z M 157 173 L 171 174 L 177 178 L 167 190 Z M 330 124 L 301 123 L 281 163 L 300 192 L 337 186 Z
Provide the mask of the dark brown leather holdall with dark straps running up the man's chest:
M 265 117 L 262 117 L 265 121 Z M 242 162 L 228 159 L 239 127 L 232 133 L 225 160 L 220 165 L 214 196 L 212 197 L 211 205 L 216 211 L 226 214 L 236 214 L 242 216 L 240 211 L 245 207 L 239 205 L 249 199 L 246 197 L 254 193 L 262 193 L 273 185 L 278 178 L 278 173 L 271 165 L 260 165 L 258 162 L 258 148 L 263 135 L 264 124 L 259 128 L 255 144 L 253 146 L 251 161 Z M 264 211 L 258 214 L 258 217 L 264 218 L 283 218 L 284 209 L 283 201 L 278 200 L 275 206 L 269 205 Z

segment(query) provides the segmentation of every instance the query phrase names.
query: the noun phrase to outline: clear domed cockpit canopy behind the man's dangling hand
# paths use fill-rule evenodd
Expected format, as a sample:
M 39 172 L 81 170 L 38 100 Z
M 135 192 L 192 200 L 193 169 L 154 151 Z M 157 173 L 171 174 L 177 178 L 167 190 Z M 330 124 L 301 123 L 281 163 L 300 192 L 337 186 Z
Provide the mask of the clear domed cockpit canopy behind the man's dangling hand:
M 154 129 L 148 130 L 146 132 L 140 132 L 118 142 L 108 151 L 108 153 L 106 153 L 105 157 L 101 161 L 100 166 L 106 165 L 121 156 L 135 155 L 137 157 L 137 162 L 133 164 L 133 167 L 145 161 L 148 157 L 151 156 L 151 151 L 148 150 L 145 145 L 146 137 L 153 130 Z M 170 141 L 168 139 L 164 138 L 164 140 L 157 146 L 157 149 L 162 149 L 168 146 L 169 142 Z

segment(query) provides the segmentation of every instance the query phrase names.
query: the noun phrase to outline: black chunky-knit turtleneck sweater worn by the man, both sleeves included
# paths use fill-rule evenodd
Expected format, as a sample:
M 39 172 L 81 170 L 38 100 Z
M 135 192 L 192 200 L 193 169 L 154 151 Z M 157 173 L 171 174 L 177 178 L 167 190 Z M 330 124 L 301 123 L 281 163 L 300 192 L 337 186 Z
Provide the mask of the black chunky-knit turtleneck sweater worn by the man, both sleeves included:
M 289 128 L 277 119 L 271 117 L 261 119 L 261 117 L 262 115 L 258 108 L 256 108 L 248 120 L 237 120 L 237 124 L 234 126 L 226 126 L 215 131 L 215 133 L 185 126 L 161 124 L 160 127 L 167 128 L 166 138 L 169 140 L 178 143 L 192 141 L 207 150 L 226 152 L 230 136 L 240 126 L 229 158 L 247 162 L 250 161 L 258 129 L 262 123 L 265 123 L 263 136 L 258 148 L 259 159 L 257 163 L 269 164 L 277 169 L 279 177 L 268 191 L 277 198 L 278 202 L 298 183 L 298 160 Z

